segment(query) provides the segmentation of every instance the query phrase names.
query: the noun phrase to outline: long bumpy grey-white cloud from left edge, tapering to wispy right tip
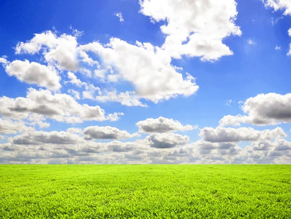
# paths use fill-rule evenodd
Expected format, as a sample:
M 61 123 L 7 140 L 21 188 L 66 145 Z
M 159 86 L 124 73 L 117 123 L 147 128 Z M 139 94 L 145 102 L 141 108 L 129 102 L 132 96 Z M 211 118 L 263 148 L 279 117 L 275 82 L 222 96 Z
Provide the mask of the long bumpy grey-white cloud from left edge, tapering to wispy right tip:
M 79 104 L 67 94 L 52 94 L 49 90 L 30 88 L 26 98 L 0 98 L 0 115 L 5 118 L 23 119 L 35 113 L 60 122 L 79 123 L 83 120 L 104 121 L 118 119 L 123 113 L 105 115 L 100 106 Z

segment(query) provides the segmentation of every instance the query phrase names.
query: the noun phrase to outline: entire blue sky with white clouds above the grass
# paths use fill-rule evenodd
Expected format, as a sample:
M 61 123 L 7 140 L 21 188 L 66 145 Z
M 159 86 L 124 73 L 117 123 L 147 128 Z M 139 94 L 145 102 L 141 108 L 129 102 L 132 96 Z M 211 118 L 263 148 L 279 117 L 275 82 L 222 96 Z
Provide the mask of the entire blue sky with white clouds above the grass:
M 290 164 L 290 0 L 0 1 L 0 163 Z

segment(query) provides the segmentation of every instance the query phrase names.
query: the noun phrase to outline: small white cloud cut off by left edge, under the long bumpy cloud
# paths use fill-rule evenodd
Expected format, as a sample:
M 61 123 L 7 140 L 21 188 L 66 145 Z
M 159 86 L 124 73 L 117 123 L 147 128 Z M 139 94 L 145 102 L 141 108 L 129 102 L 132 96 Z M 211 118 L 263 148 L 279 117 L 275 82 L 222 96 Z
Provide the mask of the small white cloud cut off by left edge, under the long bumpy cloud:
M 12 119 L 0 118 L 0 134 L 17 134 L 25 131 L 34 130 L 26 126 L 23 121 L 14 121 Z

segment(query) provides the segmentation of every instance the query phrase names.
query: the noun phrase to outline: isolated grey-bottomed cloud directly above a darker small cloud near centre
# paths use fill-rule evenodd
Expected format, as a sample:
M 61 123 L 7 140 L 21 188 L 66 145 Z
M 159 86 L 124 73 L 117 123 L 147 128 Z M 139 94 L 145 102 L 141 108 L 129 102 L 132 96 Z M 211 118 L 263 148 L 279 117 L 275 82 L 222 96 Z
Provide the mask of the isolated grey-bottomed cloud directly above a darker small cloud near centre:
M 144 121 L 139 121 L 136 126 L 141 133 L 166 133 L 177 131 L 188 131 L 198 128 L 197 126 L 185 125 L 183 126 L 178 120 L 173 118 L 147 118 Z

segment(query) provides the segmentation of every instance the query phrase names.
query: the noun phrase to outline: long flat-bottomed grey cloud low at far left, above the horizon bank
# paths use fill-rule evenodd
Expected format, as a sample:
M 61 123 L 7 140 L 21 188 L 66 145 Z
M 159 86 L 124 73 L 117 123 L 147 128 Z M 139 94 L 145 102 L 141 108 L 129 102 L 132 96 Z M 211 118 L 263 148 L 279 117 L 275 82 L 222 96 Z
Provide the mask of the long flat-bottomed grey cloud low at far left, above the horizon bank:
M 76 144 L 82 142 L 79 135 L 68 132 L 27 132 L 22 135 L 16 135 L 8 139 L 16 145 L 39 145 L 39 144 Z

